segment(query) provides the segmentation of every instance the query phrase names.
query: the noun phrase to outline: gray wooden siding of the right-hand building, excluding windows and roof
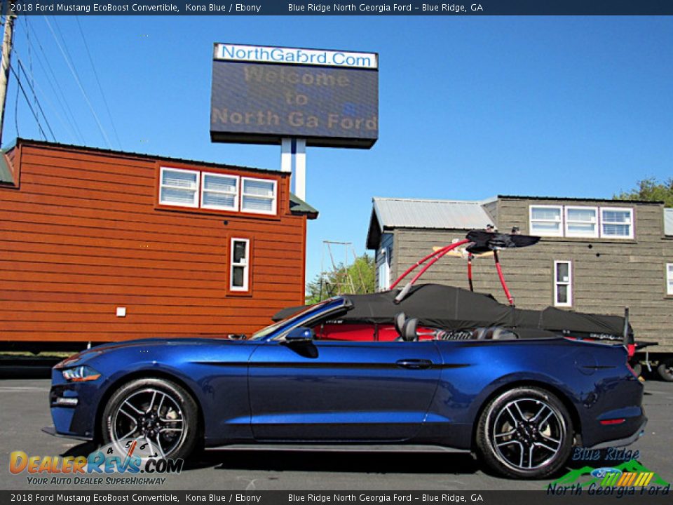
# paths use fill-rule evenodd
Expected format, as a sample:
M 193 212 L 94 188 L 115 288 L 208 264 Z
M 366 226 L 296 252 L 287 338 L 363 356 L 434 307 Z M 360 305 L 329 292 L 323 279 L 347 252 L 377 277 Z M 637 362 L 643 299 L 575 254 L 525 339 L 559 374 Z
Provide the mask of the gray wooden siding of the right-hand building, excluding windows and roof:
M 622 315 L 630 307 L 637 338 L 659 342 L 653 351 L 673 351 L 673 297 L 666 295 L 665 264 L 673 262 L 673 240 L 663 235 L 662 205 L 619 201 L 564 201 L 555 199 L 498 198 L 498 229 L 508 233 L 517 226 L 529 233 L 529 205 L 610 206 L 634 209 L 634 240 L 543 237 L 530 248 L 505 250 L 500 260 L 517 307 L 543 309 L 554 303 L 554 261 L 572 262 L 573 300 L 569 310 Z M 397 274 L 433 247 L 465 237 L 465 230 L 395 229 Z M 437 282 L 468 288 L 466 261 L 444 257 L 423 276 Z M 475 290 L 490 292 L 507 303 L 492 257 L 473 262 Z M 407 279 L 408 280 L 408 279 Z

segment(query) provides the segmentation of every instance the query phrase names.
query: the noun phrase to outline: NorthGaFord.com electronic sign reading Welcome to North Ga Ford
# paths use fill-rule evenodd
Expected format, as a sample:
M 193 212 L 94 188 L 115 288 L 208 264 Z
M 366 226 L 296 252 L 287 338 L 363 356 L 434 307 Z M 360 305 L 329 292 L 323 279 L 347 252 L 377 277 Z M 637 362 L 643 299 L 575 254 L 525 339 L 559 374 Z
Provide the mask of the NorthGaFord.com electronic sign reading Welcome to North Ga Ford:
M 216 43 L 210 137 L 372 147 L 379 137 L 378 55 Z

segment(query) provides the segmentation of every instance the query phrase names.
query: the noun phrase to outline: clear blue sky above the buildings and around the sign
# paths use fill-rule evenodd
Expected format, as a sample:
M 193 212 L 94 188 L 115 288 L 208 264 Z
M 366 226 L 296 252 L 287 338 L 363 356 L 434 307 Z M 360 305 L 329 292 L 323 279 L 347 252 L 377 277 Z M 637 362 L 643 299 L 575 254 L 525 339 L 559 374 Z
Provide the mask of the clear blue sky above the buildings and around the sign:
M 323 240 L 364 252 L 372 196 L 609 198 L 673 176 L 673 18 L 81 17 L 119 141 L 76 19 L 49 21 L 111 147 L 259 168 L 280 148 L 210 142 L 214 42 L 379 53 L 379 141 L 308 149 L 308 279 Z M 19 18 L 15 48 L 56 140 L 108 147 L 45 18 Z M 15 123 L 41 138 L 15 91 L 12 77 L 4 142 Z

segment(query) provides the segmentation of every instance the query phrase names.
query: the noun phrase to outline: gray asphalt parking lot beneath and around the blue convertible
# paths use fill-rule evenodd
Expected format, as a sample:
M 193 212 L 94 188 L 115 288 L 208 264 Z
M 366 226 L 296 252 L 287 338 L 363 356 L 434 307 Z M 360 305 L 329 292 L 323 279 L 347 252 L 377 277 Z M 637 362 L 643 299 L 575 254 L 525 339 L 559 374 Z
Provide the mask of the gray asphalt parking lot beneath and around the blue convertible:
M 9 471 L 12 451 L 29 455 L 86 455 L 91 444 L 43 433 L 52 424 L 48 379 L 0 379 L 0 489 L 119 489 L 114 485 L 34 485 Z M 646 434 L 628 447 L 640 462 L 673 480 L 673 384 L 646 382 Z M 596 466 L 593 463 L 587 463 Z M 551 480 L 551 479 L 550 479 Z M 161 486 L 147 490 L 544 490 L 547 480 L 492 476 L 470 454 L 451 452 L 295 452 L 209 450 Z

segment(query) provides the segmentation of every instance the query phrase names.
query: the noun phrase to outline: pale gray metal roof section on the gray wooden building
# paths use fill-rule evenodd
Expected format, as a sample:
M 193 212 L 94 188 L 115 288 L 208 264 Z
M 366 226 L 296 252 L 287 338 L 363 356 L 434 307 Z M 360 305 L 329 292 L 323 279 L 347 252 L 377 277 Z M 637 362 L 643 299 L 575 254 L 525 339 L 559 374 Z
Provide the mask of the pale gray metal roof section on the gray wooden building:
M 481 201 L 374 198 L 381 229 L 482 229 L 494 224 Z

